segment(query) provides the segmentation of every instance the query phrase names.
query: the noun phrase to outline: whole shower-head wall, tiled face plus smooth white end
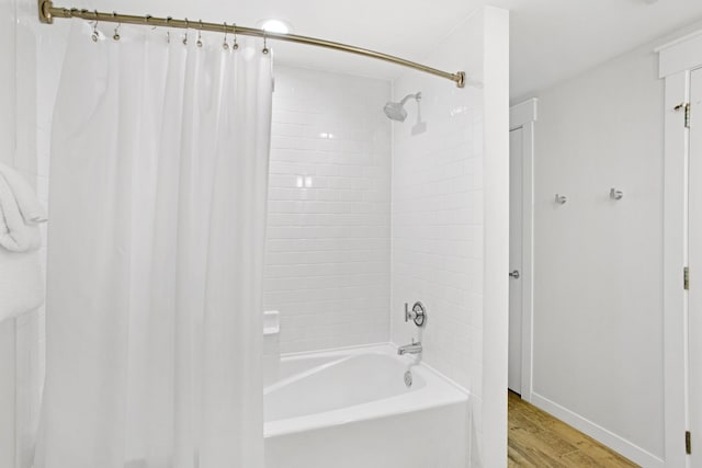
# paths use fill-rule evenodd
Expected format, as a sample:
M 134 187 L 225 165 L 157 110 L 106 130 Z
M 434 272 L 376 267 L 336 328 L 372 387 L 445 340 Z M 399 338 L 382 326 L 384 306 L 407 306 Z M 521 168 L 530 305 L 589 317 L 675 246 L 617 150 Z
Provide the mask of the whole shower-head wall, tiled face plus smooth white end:
M 465 70 L 465 89 L 417 72 L 393 85 L 422 92 L 427 130 L 411 134 L 412 102 L 394 124 L 392 340 L 418 338 L 403 305 L 423 301 L 424 362 L 471 391 L 473 467 L 507 454 L 508 24 L 480 10 L 427 59 Z

